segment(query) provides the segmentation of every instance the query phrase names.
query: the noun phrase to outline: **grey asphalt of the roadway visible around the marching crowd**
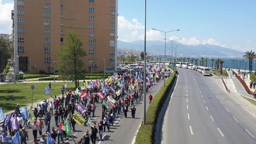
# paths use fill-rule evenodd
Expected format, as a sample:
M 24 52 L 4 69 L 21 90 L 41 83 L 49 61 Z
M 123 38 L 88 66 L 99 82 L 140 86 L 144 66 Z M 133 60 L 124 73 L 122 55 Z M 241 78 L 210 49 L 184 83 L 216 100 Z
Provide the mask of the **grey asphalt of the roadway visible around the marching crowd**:
M 146 102 L 147 102 L 147 108 L 149 105 L 148 101 L 148 95 L 152 94 L 153 99 L 154 95 L 158 93 L 159 89 L 163 86 L 164 82 L 163 80 L 160 80 L 158 83 L 156 83 L 155 86 L 149 89 L 146 97 Z M 139 128 L 139 125 L 142 122 L 143 118 L 143 98 L 140 101 L 139 104 L 135 105 L 136 107 L 136 114 L 135 118 L 131 117 L 131 110 L 127 112 L 127 118 L 124 117 L 123 111 L 121 112 L 121 115 L 114 121 L 114 125 L 110 127 L 110 132 L 108 132 L 106 128 L 106 132 L 103 132 L 103 141 L 98 141 L 96 143 L 133 143 L 135 142 L 135 135 L 137 133 L 137 130 Z M 129 107 L 131 108 L 131 107 Z M 95 111 L 95 116 L 94 118 L 91 118 L 92 123 L 93 122 L 98 122 L 100 116 L 101 116 L 101 111 L 102 111 L 102 105 L 101 103 L 96 103 L 96 111 Z M 55 120 L 54 116 L 51 117 L 51 127 L 55 126 Z M 85 131 L 88 129 L 88 127 L 82 127 L 78 124 L 75 124 L 75 132 L 73 132 L 73 137 L 75 141 L 80 140 Z M 29 140 L 27 141 L 28 143 L 33 142 L 33 134 L 32 134 L 32 129 L 27 129 L 28 135 L 29 135 Z M 90 131 L 90 130 L 89 130 Z M 45 127 L 43 128 L 43 134 L 45 134 Z M 97 135 L 99 138 L 99 135 Z M 38 140 L 40 139 L 39 133 L 38 133 Z M 57 139 L 56 139 L 57 140 Z M 65 143 L 74 143 L 73 139 L 64 139 Z

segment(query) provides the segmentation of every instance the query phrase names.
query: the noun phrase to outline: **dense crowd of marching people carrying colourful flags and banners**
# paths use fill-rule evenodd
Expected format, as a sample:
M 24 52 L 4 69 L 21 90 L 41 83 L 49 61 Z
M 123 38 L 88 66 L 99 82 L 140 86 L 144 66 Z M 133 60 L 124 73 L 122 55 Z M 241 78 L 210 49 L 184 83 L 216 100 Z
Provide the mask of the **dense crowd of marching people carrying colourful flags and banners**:
M 146 92 L 164 76 L 163 70 L 162 65 L 148 65 Z M 46 89 L 50 91 L 50 83 Z M 96 143 L 97 136 L 101 141 L 106 128 L 110 131 L 121 112 L 126 118 L 130 110 L 131 117 L 136 117 L 135 105 L 139 104 L 143 95 L 143 71 L 120 75 L 114 73 L 108 79 L 84 81 L 84 85 L 75 91 L 66 90 L 62 86 L 60 97 L 51 96 L 52 99 L 43 100 L 33 110 L 18 104 L 14 112 L 5 116 L 2 122 L 0 142 L 9 142 L 9 135 L 13 137 L 10 141 L 20 139 L 20 143 L 27 143 L 26 129 L 32 129 L 33 143 L 64 143 L 65 139 L 73 138 L 72 132 L 76 131 L 77 124 L 88 127 L 88 130 L 85 129 L 83 137 L 74 143 Z M 149 103 L 152 99 L 150 95 Z M 102 108 L 96 107 L 96 103 L 102 103 Z M 92 122 L 96 109 L 102 109 L 101 117 L 98 122 Z M 54 125 L 51 121 L 54 121 Z M 44 128 L 45 131 L 42 131 Z

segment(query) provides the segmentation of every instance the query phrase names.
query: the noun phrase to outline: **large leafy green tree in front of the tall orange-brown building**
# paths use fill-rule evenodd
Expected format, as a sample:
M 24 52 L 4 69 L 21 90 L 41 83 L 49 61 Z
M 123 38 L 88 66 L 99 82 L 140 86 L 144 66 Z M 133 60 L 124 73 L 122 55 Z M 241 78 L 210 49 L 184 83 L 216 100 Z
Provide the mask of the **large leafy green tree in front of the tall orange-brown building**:
M 64 45 L 57 51 L 59 56 L 57 62 L 58 75 L 62 80 L 74 80 L 75 88 L 78 87 L 80 79 L 84 79 L 85 70 L 82 58 L 86 56 L 82 48 L 83 41 L 73 31 L 68 31 Z

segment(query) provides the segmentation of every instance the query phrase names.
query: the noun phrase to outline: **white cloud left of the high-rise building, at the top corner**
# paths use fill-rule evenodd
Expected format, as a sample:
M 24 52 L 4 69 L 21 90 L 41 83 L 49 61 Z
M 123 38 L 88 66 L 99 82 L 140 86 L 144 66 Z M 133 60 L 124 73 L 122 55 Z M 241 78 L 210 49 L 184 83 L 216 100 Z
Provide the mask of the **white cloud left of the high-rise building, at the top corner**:
M 3 4 L 3 1 L 0 0 L 0 33 L 11 33 L 11 10 L 13 8 L 13 2 Z

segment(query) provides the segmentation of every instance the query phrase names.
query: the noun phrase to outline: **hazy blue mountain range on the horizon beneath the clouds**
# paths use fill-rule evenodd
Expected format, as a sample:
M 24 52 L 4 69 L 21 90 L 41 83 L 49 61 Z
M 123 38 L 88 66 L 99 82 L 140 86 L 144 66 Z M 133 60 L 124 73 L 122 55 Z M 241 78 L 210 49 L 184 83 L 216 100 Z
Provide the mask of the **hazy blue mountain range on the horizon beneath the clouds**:
M 183 45 L 173 41 L 173 56 L 176 52 L 177 45 L 177 57 L 190 56 L 190 57 L 242 57 L 245 53 L 226 47 L 209 44 L 199 45 Z M 165 49 L 164 41 L 147 41 L 147 53 L 150 55 L 164 55 Z M 144 41 L 137 40 L 132 42 L 118 41 L 118 49 L 129 49 L 144 51 Z M 166 41 L 166 55 L 171 55 L 172 42 Z

